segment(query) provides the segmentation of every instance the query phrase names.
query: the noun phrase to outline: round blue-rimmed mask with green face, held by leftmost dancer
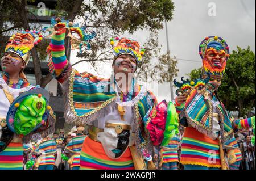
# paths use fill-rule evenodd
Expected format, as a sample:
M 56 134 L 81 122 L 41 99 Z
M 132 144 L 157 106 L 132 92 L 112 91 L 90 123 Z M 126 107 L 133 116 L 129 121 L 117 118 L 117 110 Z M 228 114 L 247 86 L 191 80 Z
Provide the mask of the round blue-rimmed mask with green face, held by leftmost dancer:
M 26 136 L 39 128 L 47 127 L 49 110 L 48 92 L 35 88 L 19 95 L 7 113 L 7 125 L 16 134 Z

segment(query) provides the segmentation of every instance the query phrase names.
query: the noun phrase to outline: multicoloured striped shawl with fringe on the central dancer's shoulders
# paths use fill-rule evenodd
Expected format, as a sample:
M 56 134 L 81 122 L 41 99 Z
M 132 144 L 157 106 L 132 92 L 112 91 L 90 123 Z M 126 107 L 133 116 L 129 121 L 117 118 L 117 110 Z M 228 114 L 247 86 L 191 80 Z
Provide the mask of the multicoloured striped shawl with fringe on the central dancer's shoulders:
M 141 85 L 135 85 L 134 89 L 141 90 L 141 87 Z M 68 78 L 65 79 L 63 93 L 64 115 L 69 123 L 92 124 L 94 120 L 107 115 L 112 107 L 117 107 L 116 93 L 110 86 L 110 79 L 98 78 L 89 73 L 80 74 L 75 69 L 72 69 Z M 147 91 L 143 99 L 132 107 L 133 123 L 131 124 L 135 125 L 138 150 L 151 145 L 143 118 L 155 103 L 155 96 Z M 152 150 L 152 146 L 147 149 Z

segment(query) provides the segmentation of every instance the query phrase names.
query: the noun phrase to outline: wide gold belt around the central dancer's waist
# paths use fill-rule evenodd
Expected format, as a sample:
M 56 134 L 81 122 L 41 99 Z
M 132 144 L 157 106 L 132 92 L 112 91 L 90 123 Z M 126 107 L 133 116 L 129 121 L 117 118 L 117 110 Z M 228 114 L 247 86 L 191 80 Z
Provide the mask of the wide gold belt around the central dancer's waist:
M 131 129 L 130 125 L 122 124 L 122 123 L 106 123 L 106 127 L 107 128 L 114 127 L 115 131 L 118 134 L 121 133 L 123 131 L 123 129 L 125 129 L 125 130 L 130 130 Z M 94 127 L 92 125 L 89 128 L 89 136 L 88 137 L 91 138 L 94 141 L 101 142 L 100 140 L 97 139 L 97 134 L 100 133 L 100 132 L 104 132 L 104 129 L 100 129 L 100 128 Z M 134 133 L 132 133 L 132 135 L 134 136 Z

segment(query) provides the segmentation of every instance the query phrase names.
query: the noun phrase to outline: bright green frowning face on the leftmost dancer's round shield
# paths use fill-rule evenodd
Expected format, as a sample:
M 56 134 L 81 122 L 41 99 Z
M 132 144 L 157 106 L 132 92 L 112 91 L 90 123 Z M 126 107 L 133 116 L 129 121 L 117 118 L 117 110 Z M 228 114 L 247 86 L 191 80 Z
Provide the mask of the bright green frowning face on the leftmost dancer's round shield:
M 29 134 L 37 125 L 43 123 L 46 111 L 46 100 L 36 95 L 24 99 L 14 117 L 15 132 L 22 135 Z

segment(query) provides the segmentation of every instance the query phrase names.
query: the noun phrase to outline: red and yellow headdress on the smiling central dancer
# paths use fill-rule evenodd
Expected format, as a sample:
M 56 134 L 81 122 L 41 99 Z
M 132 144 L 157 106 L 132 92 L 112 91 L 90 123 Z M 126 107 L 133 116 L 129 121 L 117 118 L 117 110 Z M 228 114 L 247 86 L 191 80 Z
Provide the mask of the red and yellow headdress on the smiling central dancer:
M 138 41 L 125 37 L 122 39 L 119 39 L 118 37 L 110 39 L 110 45 L 112 45 L 114 49 L 115 58 L 121 54 L 130 54 L 135 58 L 137 64 L 141 61 L 145 52 L 145 49 L 140 48 Z

